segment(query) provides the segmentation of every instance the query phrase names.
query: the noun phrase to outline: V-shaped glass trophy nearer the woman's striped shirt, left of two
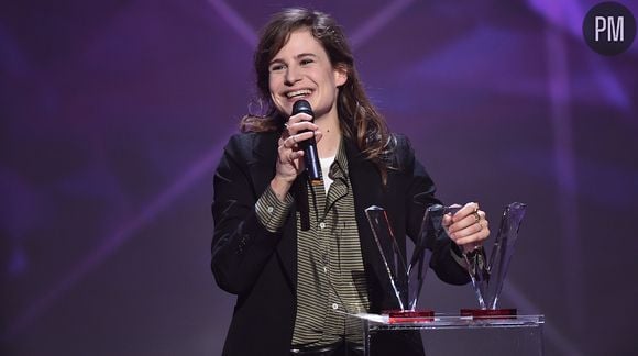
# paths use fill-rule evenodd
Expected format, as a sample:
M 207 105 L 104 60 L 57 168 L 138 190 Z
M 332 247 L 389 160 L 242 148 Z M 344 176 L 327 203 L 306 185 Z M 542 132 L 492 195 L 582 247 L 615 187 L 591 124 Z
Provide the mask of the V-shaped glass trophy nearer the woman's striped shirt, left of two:
M 404 256 L 405 249 L 398 245 L 395 238 L 387 212 L 376 205 L 365 210 L 365 215 L 372 227 L 376 246 L 381 253 L 398 305 L 397 310 L 383 312 L 388 314 L 391 323 L 433 320 L 435 312 L 431 310 L 417 310 L 417 302 L 432 254 L 431 249 L 427 248 L 428 236 L 440 230 L 443 210 L 442 205 L 432 205 L 426 210 L 421 230 L 415 240 L 415 247 L 409 262 Z

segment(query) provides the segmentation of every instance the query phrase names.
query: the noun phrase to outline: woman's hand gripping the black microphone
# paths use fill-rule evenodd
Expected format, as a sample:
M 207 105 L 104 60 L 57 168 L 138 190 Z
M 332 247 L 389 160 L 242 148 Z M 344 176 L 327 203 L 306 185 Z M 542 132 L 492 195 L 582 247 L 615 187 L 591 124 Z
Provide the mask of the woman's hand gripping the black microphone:
M 312 116 L 306 113 L 298 113 L 290 116 L 286 123 L 286 129 L 279 137 L 275 178 L 271 181 L 271 188 L 280 201 L 284 201 L 293 182 L 306 168 L 304 164 L 304 149 L 299 143 L 312 136 L 315 136 L 317 142 L 321 140 L 319 126 L 311 121 Z

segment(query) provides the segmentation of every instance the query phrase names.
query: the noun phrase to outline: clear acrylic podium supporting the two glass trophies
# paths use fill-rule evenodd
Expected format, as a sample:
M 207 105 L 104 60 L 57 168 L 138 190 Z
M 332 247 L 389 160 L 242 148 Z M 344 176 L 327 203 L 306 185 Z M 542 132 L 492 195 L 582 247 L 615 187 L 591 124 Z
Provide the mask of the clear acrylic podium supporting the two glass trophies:
M 539 356 L 543 354 L 543 315 L 498 319 L 435 315 L 429 321 L 392 321 L 387 315 L 350 314 L 363 323 L 364 355 L 374 355 L 374 335 L 417 330 L 427 356 Z

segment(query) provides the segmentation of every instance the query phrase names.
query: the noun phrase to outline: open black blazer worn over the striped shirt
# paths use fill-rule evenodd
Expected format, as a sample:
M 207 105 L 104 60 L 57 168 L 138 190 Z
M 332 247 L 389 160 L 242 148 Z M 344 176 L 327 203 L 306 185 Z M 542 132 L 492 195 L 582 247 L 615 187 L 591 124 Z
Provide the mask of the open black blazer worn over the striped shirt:
M 298 190 L 293 189 L 296 202 L 283 229 L 276 233 L 268 232 L 255 213 L 255 202 L 275 176 L 278 137 L 279 133 L 275 132 L 232 136 L 215 175 L 211 268 L 219 287 L 237 294 L 223 355 L 289 354 L 296 312 L 295 212 L 299 207 L 298 199 L 306 193 L 297 193 Z M 364 159 L 353 142 L 345 142 L 372 312 L 396 309 L 398 305 L 364 210 L 371 205 L 385 208 L 396 238 L 405 249 L 406 235 L 417 236 L 425 209 L 439 203 L 433 197 L 435 185 L 415 159 L 408 140 L 400 135 L 396 138 L 393 158 L 400 169 L 388 170 L 385 188 L 375 166 Z M 442 280 L 465 283 L 469 281 L 468 274 L 452 258 L 451 245 L 447 236 L 431 242 L 433 255 L 430 266 Z M 384 336 L 377 344 L 392 344 L 393 355 L 404 355 L 410 348 L 416 349 L 416 354 L 422 354 L 420 341 L 415 340 L 413 334 L 386 334 L 387 340 L 382 340 Z M 409 347 L 417 344 L 417 347 Z M 408 349 L 400 353 L 397 349 L 400 345 Z M 375 347 L 381 351 L 382 346 Z

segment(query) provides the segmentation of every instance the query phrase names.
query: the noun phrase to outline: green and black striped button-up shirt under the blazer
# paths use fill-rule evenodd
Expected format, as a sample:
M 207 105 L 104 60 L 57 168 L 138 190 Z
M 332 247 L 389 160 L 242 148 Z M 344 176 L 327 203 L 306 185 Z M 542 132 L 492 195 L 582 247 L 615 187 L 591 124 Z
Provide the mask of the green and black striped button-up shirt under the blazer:
M 323 173 L 324 175 L 327 173 Z M 323 185 L 307 185 L 310 226 L 301 229 L 297 211 L 297 314 L 293 346 L 321 346 L 345 337 L 362 343 L 361 323 L 344 313 L 370 309 L 354 198 L 348 176 L 344 146 L 328 175 L 333 179 L 328 193 Z M 270 231 L 284 224 L 290 194 L 280 202 L 268 188 L 256 204 L 257 216 Z

